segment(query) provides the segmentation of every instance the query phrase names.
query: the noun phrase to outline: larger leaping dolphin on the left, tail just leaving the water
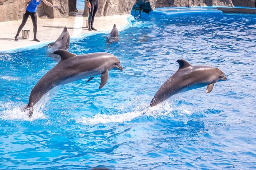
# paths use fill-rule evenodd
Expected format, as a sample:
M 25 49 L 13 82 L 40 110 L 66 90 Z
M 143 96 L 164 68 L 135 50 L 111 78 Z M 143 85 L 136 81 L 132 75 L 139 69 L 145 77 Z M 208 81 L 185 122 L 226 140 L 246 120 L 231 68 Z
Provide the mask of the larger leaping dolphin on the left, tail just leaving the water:
M 35 85 L 29 96 L 29 103 L 24 111 L 29 113 L 29 118 L 33 114 L 33 106 L 52 88 L 75 82 L 86 77 L 90 77 L 90 82 L 95 76 L 101 74 L 102 88 L 108 81 L 108 71 L 116 68 L 123 70 L 120 60 L 109 53 L 90 53 L 77 56 L 66 50 L 57 50 L 54 54 L 61 57 L 50 71 L 48 71 Z

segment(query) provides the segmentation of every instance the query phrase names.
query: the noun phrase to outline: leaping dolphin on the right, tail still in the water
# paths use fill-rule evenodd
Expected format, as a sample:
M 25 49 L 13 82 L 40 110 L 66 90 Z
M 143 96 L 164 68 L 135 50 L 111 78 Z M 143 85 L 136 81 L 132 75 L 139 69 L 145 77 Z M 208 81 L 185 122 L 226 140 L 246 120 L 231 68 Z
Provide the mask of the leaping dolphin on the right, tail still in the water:
M 207 86 L 205 93 L 210 93 L 218 81 L 227 80 L 225 74 L 216 67 L 208 65 L 192 66 L 184 59 L 177 62 L 180 68 L 173 74 L 155 94 L 150 107 L 160 104 L 174 94 Z

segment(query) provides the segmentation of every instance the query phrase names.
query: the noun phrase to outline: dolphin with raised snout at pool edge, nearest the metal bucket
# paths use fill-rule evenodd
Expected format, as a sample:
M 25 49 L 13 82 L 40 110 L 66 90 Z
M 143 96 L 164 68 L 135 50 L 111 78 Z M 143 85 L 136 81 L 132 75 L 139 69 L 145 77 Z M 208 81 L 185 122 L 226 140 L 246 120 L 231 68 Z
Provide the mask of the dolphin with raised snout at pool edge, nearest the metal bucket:
M 55 49 L 55 50 L 67 50 L 70 44 L 70 35 L 67 31 L 67 27 L 64 28 L 60 37 L 55 42 L 49 43 L 46 47 Z

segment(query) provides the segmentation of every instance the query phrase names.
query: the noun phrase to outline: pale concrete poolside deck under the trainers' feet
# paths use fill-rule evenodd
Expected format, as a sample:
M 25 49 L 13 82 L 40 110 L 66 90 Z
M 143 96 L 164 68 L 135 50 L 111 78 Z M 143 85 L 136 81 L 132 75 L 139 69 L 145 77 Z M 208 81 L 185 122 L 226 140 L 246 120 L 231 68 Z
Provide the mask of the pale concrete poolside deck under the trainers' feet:
M 131 15 L 119 15 L 109 17 L 96 17 L 94 27 L 98 31 L 88 31 L 86 28 L 87 17 L 81 15 L 81 11 L 71 14 L 68 19 L 38 19 L 37 37 L 41 42 L 33 41 L 33 24 L 29 17 L 23 29 L 30 30 L 29 39 L 22 39 L 22 32 L 18 41 L 14 40 L 17 29 L 22 20 L 0 23 L 0 51 L 12 50 L 15 48 L 24 48 L 32 45 L 45 44 L 49 41 L 55 41 L 67 26 L 70 37 L 78 37 L 82 34 L 96 33 L 100 31 L 111 31 L 113 25 L 122 28 L 128 24 L 127 18 Z

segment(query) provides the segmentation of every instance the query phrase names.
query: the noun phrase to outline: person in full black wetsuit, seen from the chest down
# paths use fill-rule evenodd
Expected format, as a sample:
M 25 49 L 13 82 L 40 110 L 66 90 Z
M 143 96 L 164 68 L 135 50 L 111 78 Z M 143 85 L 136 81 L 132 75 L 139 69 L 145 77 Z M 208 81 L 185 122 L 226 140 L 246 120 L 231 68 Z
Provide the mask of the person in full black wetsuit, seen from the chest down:
M 89 18 L 88 18 L 88 22 L 89 22 L 89 31 L 97 31 L 95 28 L 93 28 L 93 22 L 94 22 L 94 17 L 95 14 L 98 10 L 98 0 L 87 0 L 87 6 L 89 8 Z

